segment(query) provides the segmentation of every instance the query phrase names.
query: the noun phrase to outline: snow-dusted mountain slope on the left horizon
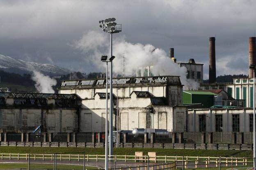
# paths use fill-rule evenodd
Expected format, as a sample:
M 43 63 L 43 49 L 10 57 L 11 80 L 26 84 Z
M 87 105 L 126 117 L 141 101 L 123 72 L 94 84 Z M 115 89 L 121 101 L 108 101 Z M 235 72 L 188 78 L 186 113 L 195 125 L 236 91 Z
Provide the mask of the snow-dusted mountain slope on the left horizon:
M 41 64 L 27 62 L 20 59 L 4 56 L 0 54 L 0 69 L 11 73 L 31 73 L 33 70 L 40 71 L 46 75 L 66 75 L 69 70 L 54 66 L 52 64 Z

